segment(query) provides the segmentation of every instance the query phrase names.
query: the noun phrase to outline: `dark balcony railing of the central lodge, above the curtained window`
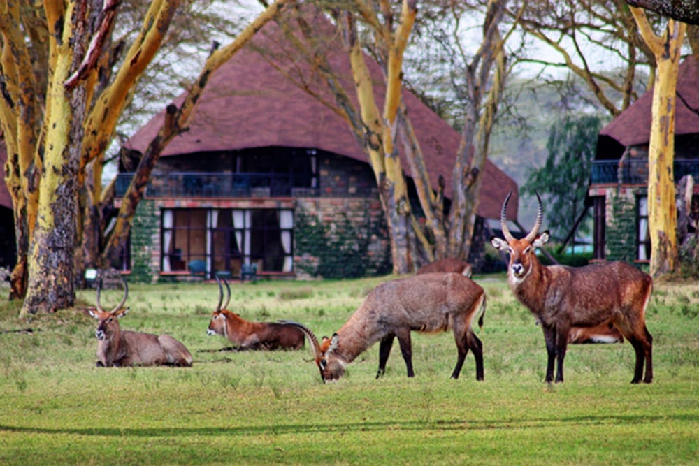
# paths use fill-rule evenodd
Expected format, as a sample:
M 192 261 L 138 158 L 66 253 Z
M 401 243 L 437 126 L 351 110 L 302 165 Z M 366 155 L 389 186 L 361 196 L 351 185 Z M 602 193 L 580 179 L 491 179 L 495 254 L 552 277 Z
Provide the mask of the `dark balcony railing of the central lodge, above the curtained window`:
M 134 173 L 117 175 L 116 195 L 124 196 Z M 303 183 L 305 181 L 305 183 Z M 296 184 L 296 186 L 295 186 Z M 308 180 L 274 173 L 168 173 L 152 175 L 145 195 L 152 198 L 314 197 Z

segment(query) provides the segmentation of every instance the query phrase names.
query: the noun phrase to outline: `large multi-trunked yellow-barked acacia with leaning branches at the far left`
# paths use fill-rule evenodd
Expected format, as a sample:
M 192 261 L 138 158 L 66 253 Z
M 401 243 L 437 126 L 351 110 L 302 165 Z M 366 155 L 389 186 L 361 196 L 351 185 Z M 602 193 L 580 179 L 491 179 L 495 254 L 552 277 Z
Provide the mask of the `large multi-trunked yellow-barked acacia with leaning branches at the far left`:
M 167 124 L 151 144 L 150 159 L 141 164 L 124 197 L 124 212 L 107 251 L 122 247 L 133 217 L 129 212 L 143 195 L 151 163 L 168 140 L 185 128 L 208 75 L 284 3 L 273 3 L 234 43 L 212 54 L 187 99 L 168 112 Z M 0 120 L 17 237 L 11 282 L 12 296 L 24 296 L 22 314 L 52 312 L 73 304 L 78 189 L 86 187 L 92 207 L 103 201 L 99 175 L 104 151 L 131 101 L 134 85 L 164 40 L 178 1 L 150 3 L 124 60 L 110 73 L 115 52 L 110 34 L 118 5 L 115 0 L 46 1 L 43 8 L 33 8 L 22 2 L 0 2 Z M 92 182 L 85 184 L 87 177 Z M 92 228 L 99 230 L 99 222 Z

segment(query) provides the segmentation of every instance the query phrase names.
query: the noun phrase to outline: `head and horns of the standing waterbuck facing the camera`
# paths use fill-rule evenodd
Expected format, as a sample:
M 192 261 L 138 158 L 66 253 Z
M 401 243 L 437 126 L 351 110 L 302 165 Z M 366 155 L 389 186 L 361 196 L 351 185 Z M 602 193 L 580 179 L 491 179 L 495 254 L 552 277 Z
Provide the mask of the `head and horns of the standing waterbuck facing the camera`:
M 512 196 L 512 191 L 507 194 L 503 203 L 503 210 L 500 212 L 500 226 L 503 229 L 503 237 L 505 239 L 493 236 L 490 238 L 490 243 L 499 251 L 510 253 L 510 265 L 507 267 L 507 275 L 510 277 L 511 282 L 521 283 L 531 273 L 535 264 L 539 262 L 535 255 L 535 249 L 546 244 L 549 240 L 549 231 L 546 230 L 539 234 L 539 228 L 541 228 L 544 218 L 544 207 L 539 194 L 536 193 L 539 208 L 534 228 L 521 240 L 514 238 L 512 233 L 510 233 L 510 228 L 507 228 L 507 203 L 510 201 L 510 196 Z

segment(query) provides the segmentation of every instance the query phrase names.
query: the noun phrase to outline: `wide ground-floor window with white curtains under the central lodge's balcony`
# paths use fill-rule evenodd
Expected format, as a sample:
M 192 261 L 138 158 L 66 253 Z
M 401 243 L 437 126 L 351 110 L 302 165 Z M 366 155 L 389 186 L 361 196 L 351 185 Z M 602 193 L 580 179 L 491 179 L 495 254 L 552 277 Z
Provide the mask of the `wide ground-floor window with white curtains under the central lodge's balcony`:
M 187 271 L 206 263 L 206 274 L 240 275 L 243 264 L 258 272 L 292 272 L 294 211 L 288 209 L 164 209 L 161 271 Z

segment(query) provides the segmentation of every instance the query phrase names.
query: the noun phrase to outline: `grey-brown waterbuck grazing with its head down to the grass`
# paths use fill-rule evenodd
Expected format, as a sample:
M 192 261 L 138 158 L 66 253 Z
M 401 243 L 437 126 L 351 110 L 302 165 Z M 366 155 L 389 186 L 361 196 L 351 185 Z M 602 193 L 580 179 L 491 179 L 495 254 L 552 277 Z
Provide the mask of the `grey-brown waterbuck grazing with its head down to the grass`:
M 323 382 L 339 379 L 346 365 L 375 342 L 381 342 L 376 374 L 380 377 L 395 337 L 401 346 L 408 377 L 414 377 L 411 330 L 436 333 L 449 328 L 454 332 L 458 350 L 452 379 L 459 378 L 470 349 L 476 361 L 476 379 L 483 380 L 483 344 L 471 328 L 479 310 L 478 324 L 482 327 L 485 293 L 478 284 L 456 273 L 429 273 L 380 284 L 345 325 L 332 338 L 323 337 L 321 343 L 301 323 L 287 323 L 297 326 L 308 337 Z

